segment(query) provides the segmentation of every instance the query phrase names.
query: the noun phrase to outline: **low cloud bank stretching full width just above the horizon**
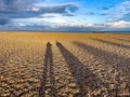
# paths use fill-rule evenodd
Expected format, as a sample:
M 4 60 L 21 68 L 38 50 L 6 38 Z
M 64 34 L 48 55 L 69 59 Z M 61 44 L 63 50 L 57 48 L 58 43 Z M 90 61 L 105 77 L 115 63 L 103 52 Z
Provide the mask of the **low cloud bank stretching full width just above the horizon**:
M 34 18 L 37 23 L 38 19 Z M 39 19 L 40 20 L 40 19 Z M 107 24 L 67 24 L 57 23 L 55 25 L 48 24 L 42 19 L 39 24 L 23 24 L 18 22 L 15 26 L 0 26 L 2 30 L 28 30 L 28 31 L 130 31 L 130 22 L 114 22 Z

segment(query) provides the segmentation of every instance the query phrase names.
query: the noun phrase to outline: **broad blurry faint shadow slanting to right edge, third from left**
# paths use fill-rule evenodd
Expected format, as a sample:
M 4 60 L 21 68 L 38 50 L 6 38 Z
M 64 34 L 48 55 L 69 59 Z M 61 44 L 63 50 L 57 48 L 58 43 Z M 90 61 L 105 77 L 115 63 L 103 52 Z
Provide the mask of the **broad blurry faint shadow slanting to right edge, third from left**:
M 115 68 L 118 72 L 120 72 L 120 74 L 127 74 L 127 75 L 129 74 L 130 58 L 126 58 L 123 56 L 119 56 L 117 54 L 107 51 L 95 48 L 82 42 L 74 41 L 73 43 L 78 47 L 88 51 L 89 53 L 93 54 L 100 59 L 103 59 L 105 63 L 109 64 L 113 68 Z

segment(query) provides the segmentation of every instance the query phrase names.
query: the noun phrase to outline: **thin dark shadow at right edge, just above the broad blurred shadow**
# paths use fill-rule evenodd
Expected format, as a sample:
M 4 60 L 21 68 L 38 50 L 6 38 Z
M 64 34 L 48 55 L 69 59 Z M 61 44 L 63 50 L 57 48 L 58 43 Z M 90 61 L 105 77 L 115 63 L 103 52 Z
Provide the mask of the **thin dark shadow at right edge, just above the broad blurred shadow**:
M 110 45 L 116 45 L 116 46 L 119 46 L 119 47 L 125 47 L 125 48 L 130 48 L 130 45 L 125 45 L 125 44 L 120 44 L 120 43 L 114 43 L 114 42 L 110 42 L 110 41 L 105 41 L 105 40 L 102 40 L 102 39 L 94 39 L 94 38 L 91 38 L 92 40 L 95 40 L 95 41 L 99 41 L 99 42 L 102 42 L 102 43 L 106 43 L 106 44 L 110 44 Z

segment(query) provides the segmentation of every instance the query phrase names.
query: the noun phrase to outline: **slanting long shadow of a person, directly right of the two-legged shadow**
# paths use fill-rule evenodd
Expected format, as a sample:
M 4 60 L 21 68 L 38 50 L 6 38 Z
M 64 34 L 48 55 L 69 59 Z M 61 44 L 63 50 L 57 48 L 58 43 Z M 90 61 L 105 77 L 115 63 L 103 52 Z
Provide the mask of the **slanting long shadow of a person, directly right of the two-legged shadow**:
M 79 94 L 75 95 L 76 97 L 87 97 L 87 87 L 89 87 L 91 91 L 94 91 L 103 86 L 102 80 L 93 74 L 87 66 L 81 64 L 81 61 L 69 51 L 67 51 L 60 42 L 56 42 L 56 46 L 61 51 L 61 54 L 68 65 L 69 71 L 76 80 L 76 85 L 79 88 Z

